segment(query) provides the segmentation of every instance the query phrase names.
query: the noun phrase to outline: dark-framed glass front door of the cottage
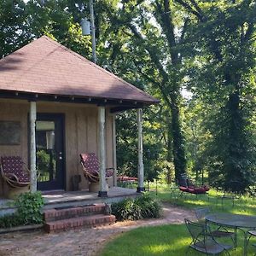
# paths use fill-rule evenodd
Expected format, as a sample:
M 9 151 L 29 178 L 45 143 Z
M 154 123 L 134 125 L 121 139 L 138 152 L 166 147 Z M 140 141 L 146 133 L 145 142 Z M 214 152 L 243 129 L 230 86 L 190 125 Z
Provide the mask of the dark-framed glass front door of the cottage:
M 37 114 L 36 143 L 38 190 L 65 189 L 63 114 Z

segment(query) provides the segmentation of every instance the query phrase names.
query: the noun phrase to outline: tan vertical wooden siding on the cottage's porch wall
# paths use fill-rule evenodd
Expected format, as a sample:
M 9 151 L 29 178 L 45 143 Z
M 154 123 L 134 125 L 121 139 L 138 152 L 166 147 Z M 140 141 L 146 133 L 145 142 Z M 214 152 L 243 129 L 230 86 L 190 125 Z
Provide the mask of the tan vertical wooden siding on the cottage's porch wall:
M 72 188 L 71 177 L 81 175 L 79 189 L 87 189 L 88 182 L 85 180 L 83 170 L 79 163 L 79 154 L 83 152 L 98 153 L 97 138 L 97 108 L 94 105 L 38 102 L 38 113 L 64 113 L 65 114 L 65 156 L 66 156 L 66 190 Z M 20 145 L 0 145 L 0 155 L 21 155 L 28 162 L 27 141 L 27 117 L 29 103 L 26 101 L 0 100 L 0 121 L 15 120 L 21 123 Z M 113 166 L 113 137 L 112 116 L 107 110 L 106 115 L 106 149 L 107 167 Z M 3 181 L 0 186 L 0 195 L 3 195 Z M 113 179 L 109 184 L 113 185 Z

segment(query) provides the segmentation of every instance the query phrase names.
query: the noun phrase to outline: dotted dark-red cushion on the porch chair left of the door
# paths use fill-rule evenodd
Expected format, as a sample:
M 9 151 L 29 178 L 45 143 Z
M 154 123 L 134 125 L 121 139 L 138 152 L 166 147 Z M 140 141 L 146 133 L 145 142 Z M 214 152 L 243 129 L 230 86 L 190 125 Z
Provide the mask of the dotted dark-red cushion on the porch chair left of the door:
M 28 173 L 23 171 L 20 156 L 3 156 L 1 157 L 1 164 L 3 172 L 15 174 L 20 183 L 28 183 L 30 181 Z

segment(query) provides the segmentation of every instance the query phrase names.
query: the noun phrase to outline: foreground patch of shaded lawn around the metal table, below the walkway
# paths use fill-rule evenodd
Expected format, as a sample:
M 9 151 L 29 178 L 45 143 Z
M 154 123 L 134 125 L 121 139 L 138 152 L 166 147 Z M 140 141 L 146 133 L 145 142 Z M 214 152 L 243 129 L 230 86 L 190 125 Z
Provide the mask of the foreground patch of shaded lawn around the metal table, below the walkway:
M 200 255 L 193 249 L 188 251 L 190 241 L 191 238 L 184 224 L 138 228 L 108 242 L 100 255 Z M 242 247 L 243 236 L 238 232 L 238 247 L 230 251 L 230 255 L 242 255 Z M 253 255 L 253 247 L 249 247 L 247 255 Z

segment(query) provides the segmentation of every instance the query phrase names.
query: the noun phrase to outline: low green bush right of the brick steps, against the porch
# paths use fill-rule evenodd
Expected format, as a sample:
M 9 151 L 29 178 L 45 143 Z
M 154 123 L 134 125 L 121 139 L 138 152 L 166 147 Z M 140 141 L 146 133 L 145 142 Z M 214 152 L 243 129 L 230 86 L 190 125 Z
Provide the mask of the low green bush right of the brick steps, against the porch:
M 137 199 L 125 199 L 112 204 L 112 213 L 117 220 L 137 220 L 141 218 L 159 218 L 160 203 L 147 193 Z

